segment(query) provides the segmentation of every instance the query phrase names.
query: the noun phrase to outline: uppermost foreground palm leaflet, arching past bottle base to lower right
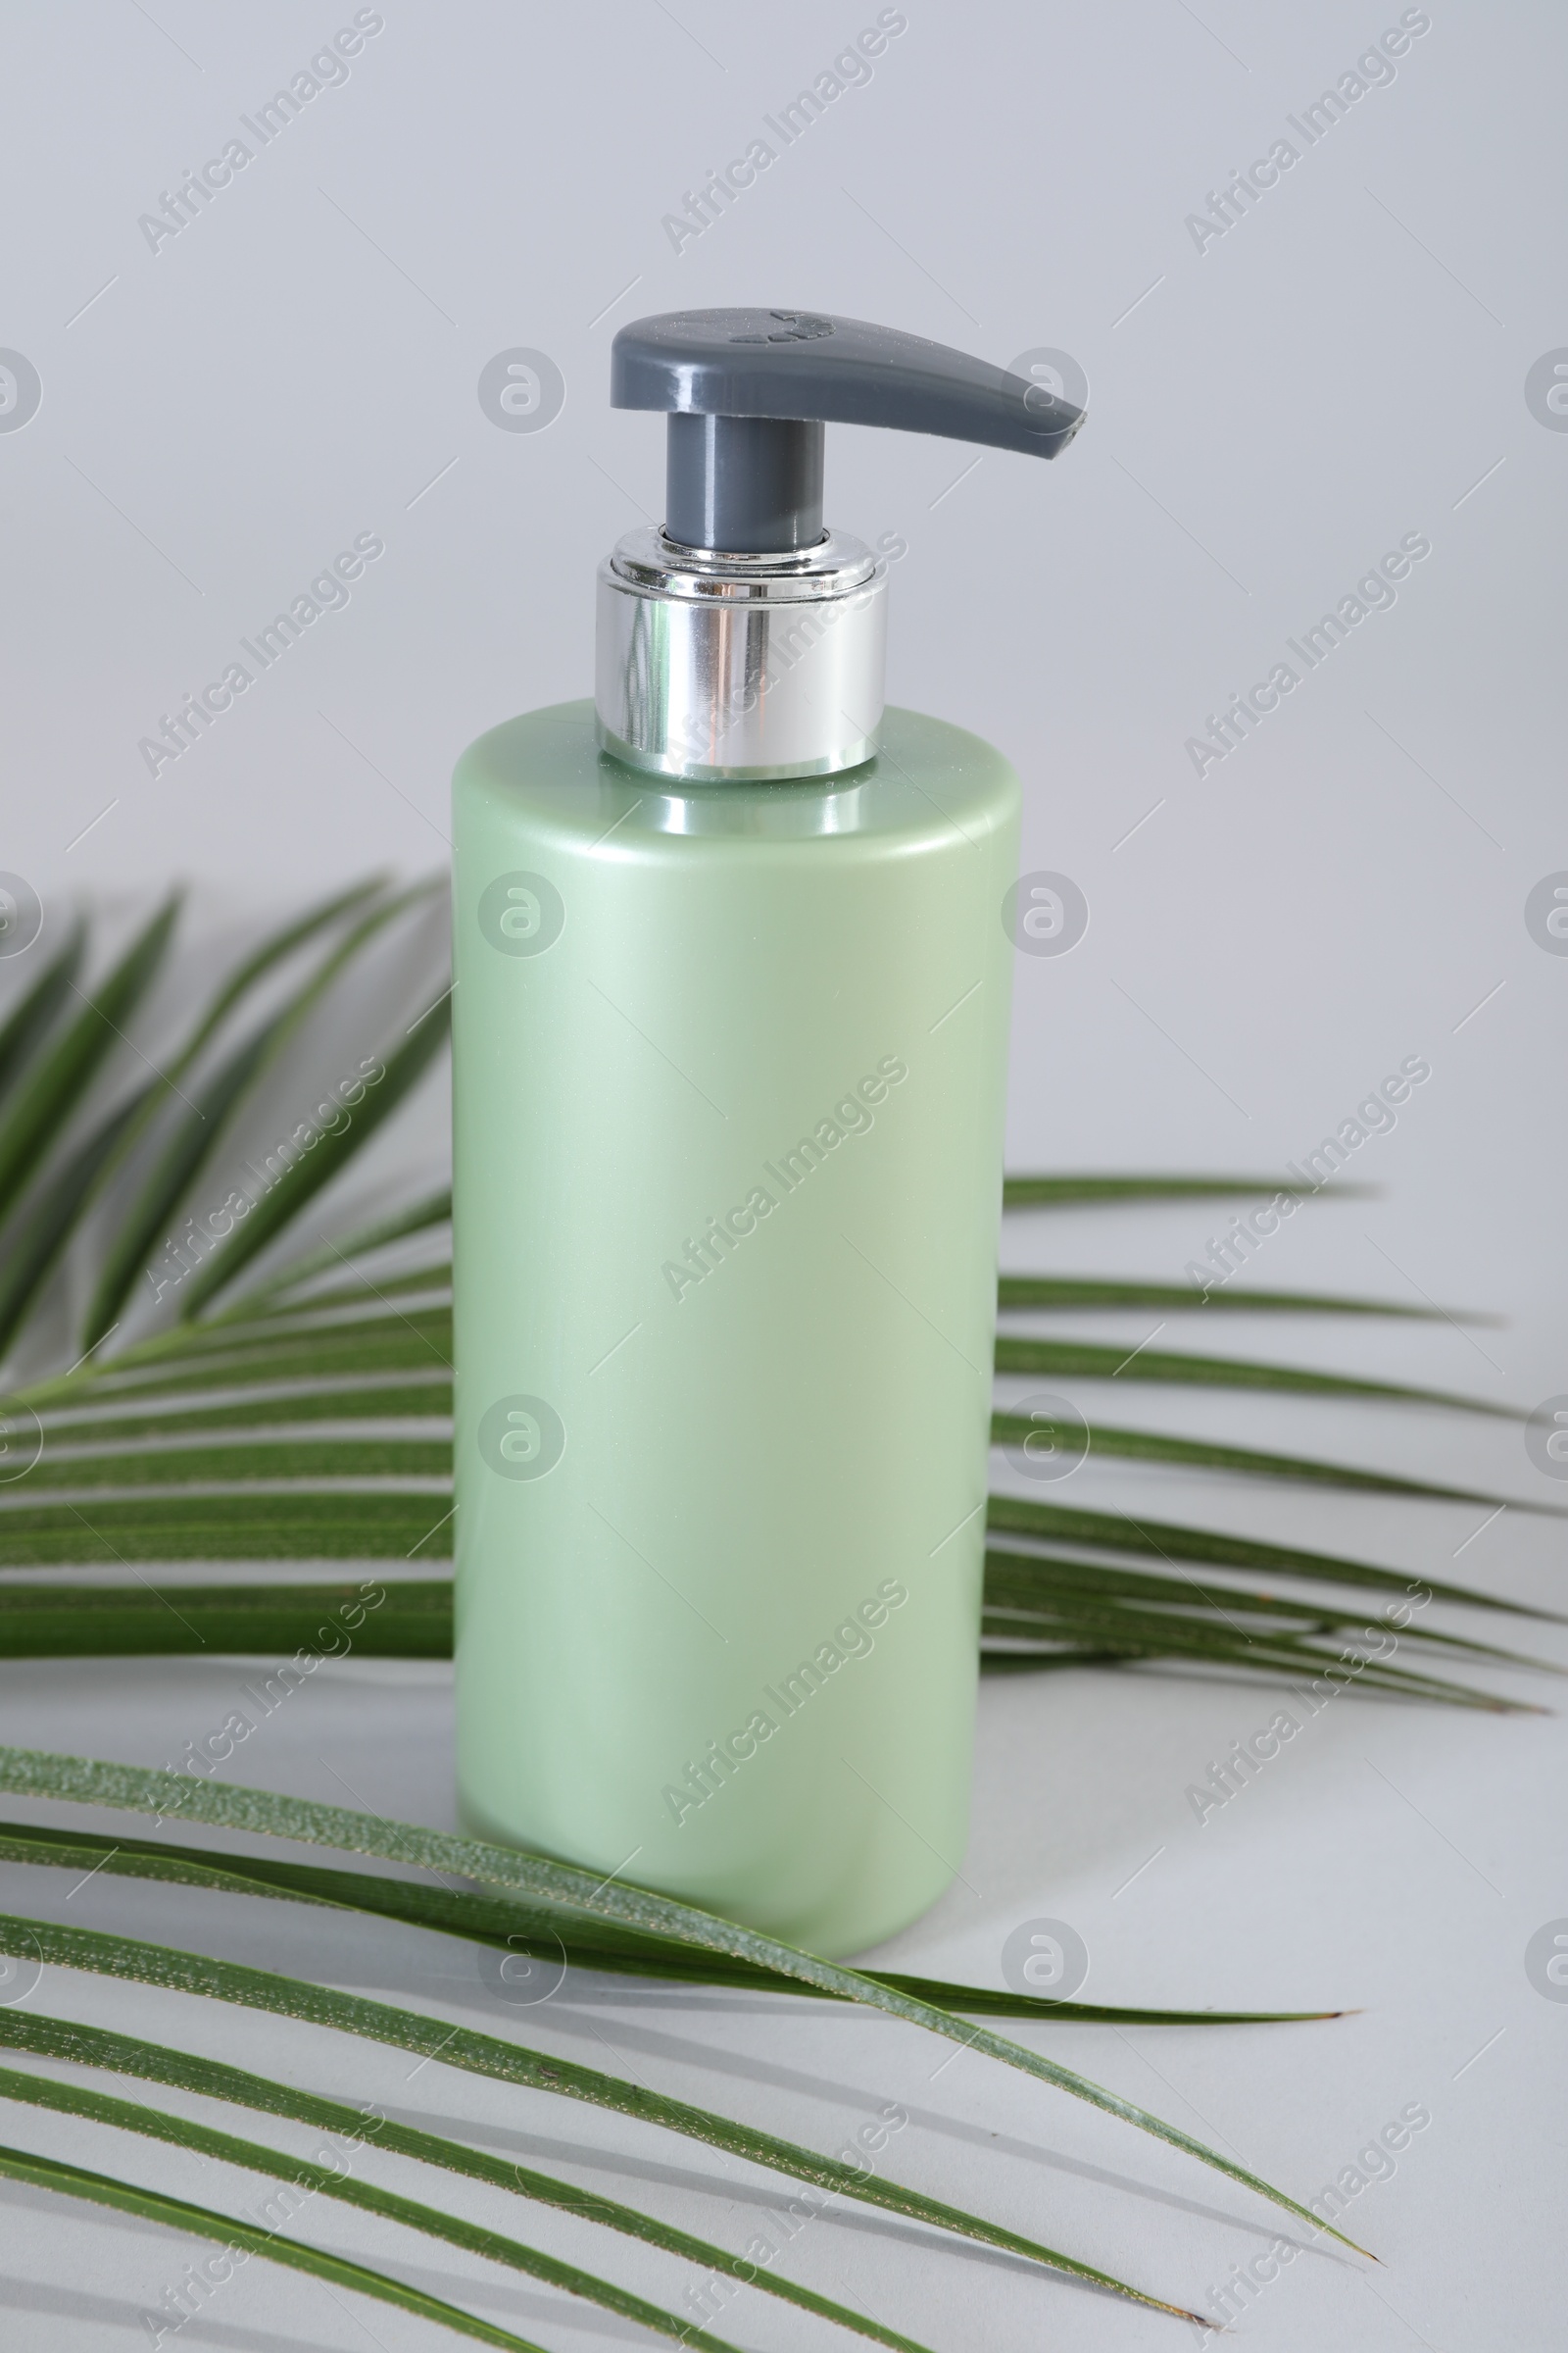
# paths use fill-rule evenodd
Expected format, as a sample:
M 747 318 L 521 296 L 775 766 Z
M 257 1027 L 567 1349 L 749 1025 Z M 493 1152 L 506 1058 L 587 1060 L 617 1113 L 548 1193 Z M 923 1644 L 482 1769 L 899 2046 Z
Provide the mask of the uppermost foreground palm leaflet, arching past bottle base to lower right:
M 922 2002 L 914 1995 L 898 1993 L 891 1986 L 863 1977 L 858 1969 L 846 1969 L 842 1962 L 820 1960 L 816 1953 L 802 1953 L 778 1937 L 764 1937 L 757 1929 L 738 1927 L 733 1920 L 719 1920 L 717 1915 L 698 1911 L 691 1904 L 677 1904 L 672 1897 L 658 1894 L 656 1889 L 632 1887 L 614 1878 L 602 1880 L 595 1878 L 592 1871 L 578 1871 L 574 1864 L 545 1861 L 543 1857 L 520 1854 L 510 1847 L 494 1847 L 484 1840 L 451 1838 L 444 1831 L 428 1831 L 418 1824 L 388 1824 L 374 1814 L 355 1814 L 336 1805 L 315 1805 L 306 1798 L 277 1798 L 270 1791 L 228 1781 L 195 1784 L 181 1774 L 141 1772 L 132 1765 L 101 1765 L 92 1758 L 63 1758 L 26 1748 L 0 1748 L 0 1788 L 9 1788 L 16 1795 L 61 1798 L 82 1805 L 113 1805 L 158 1814 L 179 1812 L 186 1821 L 207 1821 L 233 1831 L 261 1831 L 270 1838 L 299 1840 L 301 1845 L 336 1847 L 350 1854 L 374 1854 L 386 1861 L 414 1864 L 437 1873 L 447 1871 L 451 1875 L 517 1889 L 524 1897 L 562 1904 L 571 1911 L 585 1913 L 588 1918 L 614 1920 L 625 1927 L 644 1929 L 654 1937 L 670 1937 L 675 1941 L 698 1946 L 708 1953 L 724 1953 L 731 1960 L 762 1962 L 778 1969 L 783 1977 L 797 1977 L 802 1984 L 816 1986 L 823 1993 L 839 1993 L 846 2000 L 865 2002 L 870 2009 L 882 2009 L 889 2017 L 903 2019 L 907 2026 L 924 2026 L 929 2033 L 961 2042 L 964 2049 L 976 2049 L 983 2057 L 999 2059 L 1004 2066 L 1018 2068 L 1023 2075 L 1032 2075 L 1039 2082 L 1070 2092 L 1074 2099 L 1088 2101 L 1088 2106 L 1103 2108 L 1107 2115 L 1138 2125 L 1143 2132 L 1166 2141 L 1171 2148 L 1185 2151 L 1201 2165 L 1211 2165 L 1215 2172 L 1222 2172 L 1244 2188 L 1269 2198 L 1274 2205 L 1298 2214 L 1314 2228 L 1326 2228 L 1319 2217 L 1298 2205 L 1295 2198 L 1272 2188 L 1258 2174 L 1232 2162 L 1229 2158 L 1222 2158 L 1218 2151 L 1206 2148 L 1201 2141 L 1194 2141 L 1192 2134 L 1182 2132 L 1178 2125 L 1166 2125 L 1147 2108 L 1138 2108 L 1117 2092 L 1107 2092 L 1100 2085 L 1088 2082 L 1088 2078 L 1074 2075 L 1072 2068 L 1063 2068 L 1053 2059 L 1044 2059 L 1039 2052 L 1032 2052 L 1020 2042 L 1009 2042 L 1004 2035 L 994 2035 L 985 2026 L 966 2031 L 966 2021 L 961 2017 L 936 2002 Z M 1340 2231 L 1333 2235 L 1345 2240 L 1345 2233 Z M 1354 2245 L 1354 2240 L 1345 2240 L 1345 2245 Z

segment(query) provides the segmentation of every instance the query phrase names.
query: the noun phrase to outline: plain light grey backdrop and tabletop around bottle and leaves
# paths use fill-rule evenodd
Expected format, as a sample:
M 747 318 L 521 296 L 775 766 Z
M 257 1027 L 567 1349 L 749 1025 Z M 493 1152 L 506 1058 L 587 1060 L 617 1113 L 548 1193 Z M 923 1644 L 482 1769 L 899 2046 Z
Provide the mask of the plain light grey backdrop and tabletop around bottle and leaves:
M 1276 1167 L 1425 1054 L 1432 1080 L 1399 1129 L 1356 1155 L 1385 1195 L 1319 1202 L 1258 1280 L 1481 1304 L 1512 1325 L 1204 1327 L 1204 1344 L 1354 1358 L 1526 1407 L 1568 1391 L 1568 960 L 1523 927 L 1528 889 L 1568 866 L 1554 659 L 1568 435 L 1523 398 L 1528 367 L 1568 344 L 1561 16 L 1439 0 L 1392 87 L 1199 254 L 1185 216 L 1267 153 L 1396 7 L 914 0 L 872 82 L 677 256 L 661 216 L 875 7 L 388 5 L 350 80 L 148 252 L 139 214 L 350 14 L 160 0 L 148 16 L 103 0 L 7 16 L 0 344 L 38 367 L 42 407 L 0 433 L 0 866 L 35 882 L 52 922 L 78 889 L 195 875 L 209 934 L 371 864 L 437 866 L 456 751 L 512 711 L 585 692 L 592 567 L 658 508 L 661 428 L 604 405 L 625 318 L 778 301 L 1004 362 L 1067 348 L 1091 424 L 1053 468 L 830 435 L 830 520 L 910 546 L 893 567 L 891 696 L 1009 751 L 1025 866 L 1067 871 L 1091 904 L 1070 958 L 1018 965 L 1009 1160 Z M 562 369 L 567 402 L 543 433 L 501 433 L 480 409 L 480 369 L 510 346 Z M 348 609 L 150 779 L 139 736 L 357 532 L 383 534 L 386 555 Z M 1396 607 L 1199 781 L 1185 741 L 1206 713 L 1406 532 L 1425 532 L 1432 555 Z M 418 1120 L 404 1136 L 428 1153 Z M 1206 1207 L 1032 1219 L 1004 1254 L 1175 1278 L 1213 1231 Z M 1150 1320 L 1098 1329 L 1126 1329 L 1131 1348 Z M 1505 1424 L 1147 1393 L 1135 1414 L 1124 1405 L 1124 1419 L 1154 1414 L 1552 1494 Z M 1128 1482 L 1091 1464 L 1072 1492 L 1107 1501 Z M 1481 1513 L 1448 1508 L 1154 1475 L 1135 1494 L 1150 1513 L 1227 1515 L 1561 1598 L 1561 1537 L 1516 1513 L 1476 1534 Z M 336 1800 L 343 1774 L 383 1812 L 449 1819 L 444 1671 L 329 1673 L 266 1753 L 247 1751 L 247 1772 Z M 221 1715 L 233 1680 L 195 1664 L 45 1666 L 5 1671 L 0 1694 L 9 1739 L 162 1762 Z M 1549 2346 L 1568 2005 L 1530 1991 L 1523 1946 L 1568 1913 L 1561 1725 L 1342 1701 L 1199 1831 L 1185 1784 L 1267 1713 L 1262 1692 L 1168 1678 L 990 1687 L 964 1885 L 900 1958 L 994 1979 L 1013 1925 L 1060 1915 L 1088 1941 L 1091 1998 L 1363 2002 L 1316 2028 L 1039 2040 L 1302 2195 L 1403 2104 L 1429 2104 L 1396 2179 L 1352 2209 L 1387 2268 L 1298 2261 L 1239 2329 L 1260 2348 Z M 63 1885 L 38 1878 L 9 1873 L 12 1901 L 61 1906 Z M 125 1889 L 94 1901 L 103 1922 L 148 1934 L 306 1953 L 296 1920 L 235 1911 L 223 1925 L 209 1904 Z M 470 2000 L 458 1977 L 414 1974 L 461 1972 L 456 1948 L 313 1934 L 313 1965 L 341 1981 Z M 597 2148 L 585 2179 L 658 2195 L 733 2245 L 748 2235 L 752 2184 L 585 2111 L 489 2099 L 437 2068 L 404 2094 L 395 2061 L 303 2031 L 193 2019 L 153 1995 L 66 1998 L 214 2052 L 244 2045 L 254 2064 L 315 2064 L 357 2097 L 477 2118 L 496 2146 Z M 630 2071 L 820 2146 L 900 2097 L 914 2125 L 893 2144 L 896 2172 L 1187 2301 L 1272 2235 L 1241 2193 L 997 2068 L 959 2059 L 929 2082 L 940 2054 L 898 2028 L 585 1993 L 550 2005 L 538 2033 L 602 2064 L 595 2035 L 609 2038 Z M 78 2146 L 14 2111 L 5 2129 Z M 197 2198 L 249 2198 L 146 2148 L 115 2162 Z M 5 2207 L 7 2341 L 146 2341 L 136 2313 L 179 2275 L 174 2242 L 14 2191 Z M 484 2212 L 520 2226 L 501 2200 Z M 376 2245 L 339 2219 L 310 2228 Z M 910 2252 L 875 2224 L 813 2238 L 790 2257 L 799 2275 L 945 2348 L 1025 2332 L 1175 2341 L 1175 2322 L 976 2254 Z M 463 2268 L 411 2259 L 423 2278 Z M 663 2261 L 618 2273 L 663 2297 L 686 2285 Z M 473 2289 L 482 2308 L 548 2344 L 625 2337 L 496 2280 Z M 440 2341 L 259 2266 L 181 2341 L 348 2348 L 367 2322 L 388 2348 Z M 816 2341 L 759 2299 L 726 2327 L 743 2344 Z

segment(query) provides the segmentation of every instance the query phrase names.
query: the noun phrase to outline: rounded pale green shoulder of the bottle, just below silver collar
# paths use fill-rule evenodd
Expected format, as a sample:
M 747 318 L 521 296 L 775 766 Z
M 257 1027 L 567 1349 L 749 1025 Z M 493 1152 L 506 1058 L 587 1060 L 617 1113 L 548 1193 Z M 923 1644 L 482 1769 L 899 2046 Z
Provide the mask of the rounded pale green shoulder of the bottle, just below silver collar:
M 788 784 L 684 784 L 639 774 L 599 753 L 590 699 L 550 704 L 491 727 L 461 755 L 454 779 L 458 831 L 508 814 L 567 845 L 661 840 L 778 845 L 856 840 L 879 849 L 1009 831 L 1018 776 L 983 736 L 891 706 L 882 748 L 842 776 Z

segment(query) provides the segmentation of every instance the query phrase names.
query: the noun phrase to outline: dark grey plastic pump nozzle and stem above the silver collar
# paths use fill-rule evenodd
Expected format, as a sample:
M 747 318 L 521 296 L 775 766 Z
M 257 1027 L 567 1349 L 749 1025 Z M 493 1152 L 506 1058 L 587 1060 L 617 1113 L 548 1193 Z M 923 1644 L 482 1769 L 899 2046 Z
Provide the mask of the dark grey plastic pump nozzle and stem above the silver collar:
M 823 539 L 823 424 L 1056 456 L 1084 409 L 898 327 L 816 311 L 679 311 L 611 346 L 618 409 L 670 419 L 665 534 L 773 555 Z

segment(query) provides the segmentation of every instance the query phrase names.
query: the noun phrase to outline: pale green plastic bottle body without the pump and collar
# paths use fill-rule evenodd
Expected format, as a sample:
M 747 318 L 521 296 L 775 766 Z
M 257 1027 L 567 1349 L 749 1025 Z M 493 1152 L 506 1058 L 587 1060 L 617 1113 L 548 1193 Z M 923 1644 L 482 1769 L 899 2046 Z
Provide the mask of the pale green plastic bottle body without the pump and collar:
M 1018 781 L 454 779 L 458 1786 L 820 1953 L 961 1864 Z

